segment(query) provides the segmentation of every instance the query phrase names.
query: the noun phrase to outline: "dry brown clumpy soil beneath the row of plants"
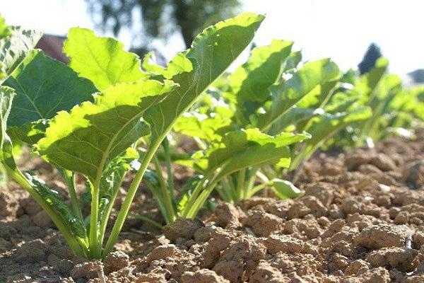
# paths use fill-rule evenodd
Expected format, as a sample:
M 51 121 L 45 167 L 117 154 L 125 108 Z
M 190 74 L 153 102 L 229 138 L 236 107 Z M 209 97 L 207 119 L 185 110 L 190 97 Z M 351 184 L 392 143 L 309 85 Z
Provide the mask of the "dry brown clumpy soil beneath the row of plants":
M 0 195 L 0 282 L 424 282 L 423 138 L 320 154 L 295 174 L 298 200 L 222 203 L 163 231 L 129 219 L 103 263 L 74 257 L 11 183 Z M 64 193 L 52 168 L 25 164 Z M 144 188 L 134 212 L 160 219 Z

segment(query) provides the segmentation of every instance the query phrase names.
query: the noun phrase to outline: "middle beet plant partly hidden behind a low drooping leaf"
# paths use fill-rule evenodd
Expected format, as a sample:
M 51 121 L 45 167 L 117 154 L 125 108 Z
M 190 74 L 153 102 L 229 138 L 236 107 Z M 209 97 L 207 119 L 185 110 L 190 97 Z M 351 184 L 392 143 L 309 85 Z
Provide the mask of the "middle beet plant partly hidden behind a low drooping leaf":
M 217 192 L 227 202 L 248 199 L 265 187 L 281 199 L 302 195 L 278 177 L 297 168 L 341 128 L 370 117 L 367 107 L 325 111 L 338 86 L 338 67 L 329 59 L 301 65 L 301 53 L 293 52 L 292 46 L 293 42 L 273 40 L 271 45 L 254 48 L 245 64 L 218 81 L 175 126 L 177 132 L 194 137 L 206 152 L 225 137 L 228 128 L 254 128 L 272 136 L 303 135 L 304 139 L 302 133 L 312 134 L 305 142 L 290 144 L 286 158 L 291 164 L 252 164 L 226 175 Z M 203 173 L 196 162 L 179 163 Z

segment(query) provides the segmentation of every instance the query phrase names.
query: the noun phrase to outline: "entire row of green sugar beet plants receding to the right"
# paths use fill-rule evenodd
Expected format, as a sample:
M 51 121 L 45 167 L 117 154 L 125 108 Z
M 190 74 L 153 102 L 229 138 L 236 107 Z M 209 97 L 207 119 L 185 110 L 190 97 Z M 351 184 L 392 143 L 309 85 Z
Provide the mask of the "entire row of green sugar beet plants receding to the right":
M 161 67 L 153 54 L 141 61 L 121 42 L 84 28 L 69 30 L 70 62 L 62 64 L 34 48 L 41 33 L 1 19 L 4 175 L 45 209 L 73 253 L 101 259 L 116 243 L 142 181 L 165 223 L 196 217 L 214 191 L 225 202 L 264 188 L 294 198 L 302 192 L 281 178 L 317 149 L 370 144 L 423 120 L 423 89 L 402 88 L 386 74 L 385 59 L 364 76 L 341 74 L 330 59 L 302 63 L 293 42 L 273 40 L 226 73 L 263 20 L 242 13 L 206 28 Z M 196 149 L 179 151 L 182 136 Z M 22 146 L 57 168 L 69 200 L 16 166 Z M 195 172 L 184 187 L 174 183 L 176 165 Z M 77 175 L 86 180 L 84 194 L 76 190 Z M 111 223 L 126 175 L 131 185 Z

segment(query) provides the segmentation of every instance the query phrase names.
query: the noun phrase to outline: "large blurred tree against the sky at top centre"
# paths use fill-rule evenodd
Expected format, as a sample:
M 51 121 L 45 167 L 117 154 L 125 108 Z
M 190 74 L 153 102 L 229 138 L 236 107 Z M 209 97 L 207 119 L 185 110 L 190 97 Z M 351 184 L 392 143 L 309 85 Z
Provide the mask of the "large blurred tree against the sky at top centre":
M 240 0 L 86 0 L 94 21 L 117 35 L 129 28 L 143 35 L 134 50 L 143 52 L 153 38 L 167 40 L 180 33 L 186 47 L 203 28 L 237 13 Z M 137 13 L 137 12 L 140 13 Z

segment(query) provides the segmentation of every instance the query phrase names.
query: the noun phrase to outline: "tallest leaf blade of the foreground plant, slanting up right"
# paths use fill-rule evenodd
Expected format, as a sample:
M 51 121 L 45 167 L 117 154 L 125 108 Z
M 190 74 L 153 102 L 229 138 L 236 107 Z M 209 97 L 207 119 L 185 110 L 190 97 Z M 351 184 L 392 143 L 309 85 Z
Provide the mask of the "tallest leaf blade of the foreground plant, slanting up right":
M 172 81 L 180 87 L 146 111 L 144 118 L 151 125 L 151 144 L 159 146 L 177 118 L 249 45 L 263 20 L 264 16 L 242 13 L 217 23 L 198 35 L 189 50 L 172 59 L 170 67 L 177 71 Z M 154 147 L 150 150 L 154 151 Z

